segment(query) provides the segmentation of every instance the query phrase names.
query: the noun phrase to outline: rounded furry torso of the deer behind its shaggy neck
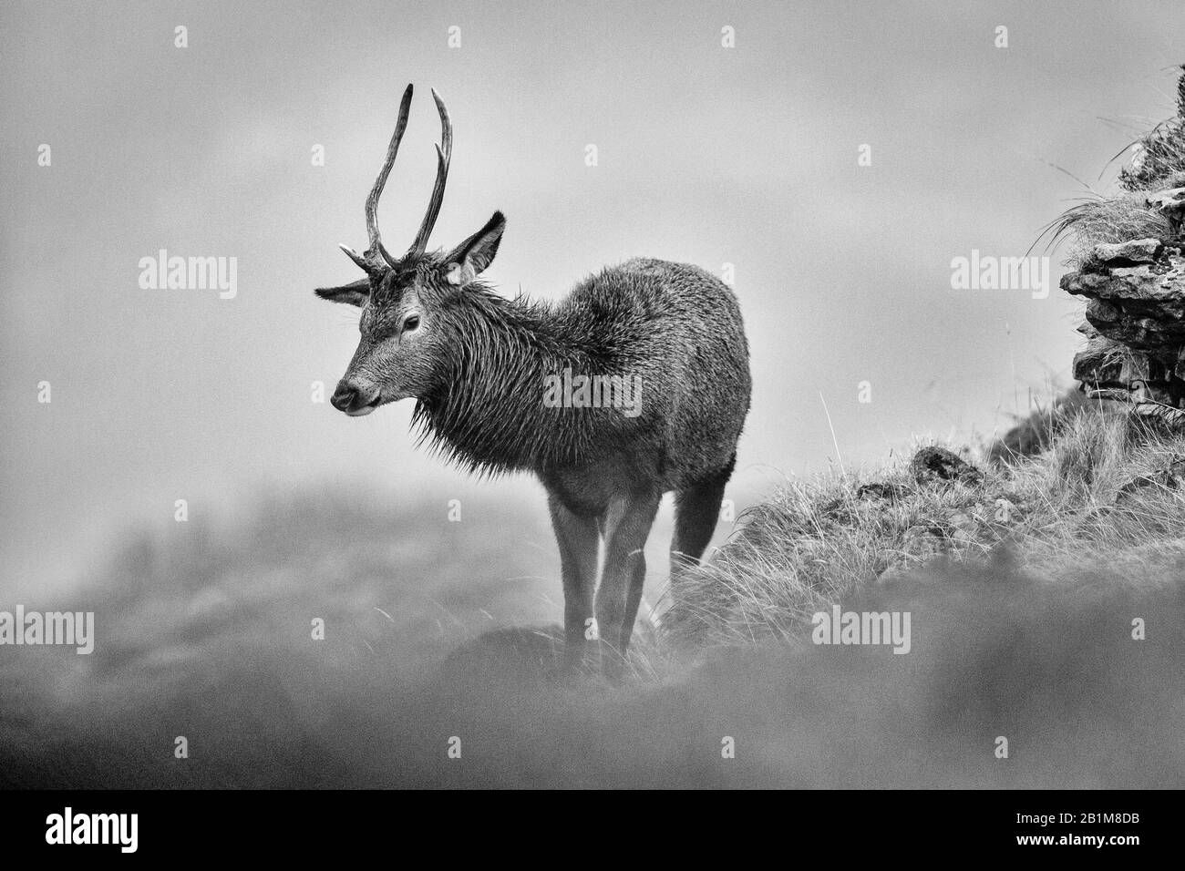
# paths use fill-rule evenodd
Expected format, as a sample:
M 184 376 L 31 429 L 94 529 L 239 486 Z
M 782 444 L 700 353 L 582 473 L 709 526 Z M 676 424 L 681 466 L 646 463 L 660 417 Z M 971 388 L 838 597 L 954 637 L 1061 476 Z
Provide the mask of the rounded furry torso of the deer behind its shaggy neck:
M 581 282 L 557 314 L 591 369 L 641 384 L 636 417 L 602 417 L 610 423 L 592 476 L 623 470 L 681 489 L 731 462 L 750 377 L 741 308 L 724 282 L 699 267 L 635 258 Z

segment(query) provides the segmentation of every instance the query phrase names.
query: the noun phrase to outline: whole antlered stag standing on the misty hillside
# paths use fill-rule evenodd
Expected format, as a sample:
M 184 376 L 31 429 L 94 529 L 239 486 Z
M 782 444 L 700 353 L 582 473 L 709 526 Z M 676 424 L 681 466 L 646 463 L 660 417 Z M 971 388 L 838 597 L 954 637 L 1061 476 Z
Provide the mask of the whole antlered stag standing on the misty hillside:
M 635 258 L 579 282 L 556 305 L 508 300 L 480 278 L 501 212 L 449 251 L 429 251 L 453 124 L 411 246 L 383 245 L 376 209 L 408 124 L 404 91 L 386 161 L 366 198 L 369 248 L 341 245 L 366 274 L 316 294 L 361 309 L 361 339 L 333 393 L 347 415 L 416 401 L 434 448 L 486 474 L 530 472 L 547 492 L 564 587 L 565 662 L 604 639 L 620 674 L 642 596 L 642 549 L 664 493 L 675 493 L 672 574 L 699 561 L 749 410 L 749 350 L 732 292 L 684 263 Z M 598 545 L 604 565 L 597 585 Z

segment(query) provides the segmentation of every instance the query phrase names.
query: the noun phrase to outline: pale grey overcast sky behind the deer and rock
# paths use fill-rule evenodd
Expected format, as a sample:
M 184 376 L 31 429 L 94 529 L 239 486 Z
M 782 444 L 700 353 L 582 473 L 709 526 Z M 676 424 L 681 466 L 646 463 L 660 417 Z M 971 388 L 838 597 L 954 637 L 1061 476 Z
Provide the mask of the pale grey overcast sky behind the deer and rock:
M 991 435 L 1066 383 L 1062 256 L 1044 300 L 952 290 L 950 261 L 1023 256 L 1084 184 L 1107 190 L 1108 159 L 1172 114 L 1185 60 L 1168 2 L 327 6 L 0 7 L 0 584 L 64 583 L 113 530 L 263 482 L 538 499 L 416 451 L 410 403 L 350 420 L 309 399 L 357 341 L 357 313 L 312 289 L 357 277 L 337 243 L 365 246 L 408 82 L 379 210 L 392 248 L 431 187 L 435 87 L 456 139 L 434 243 L 501 209 L 488 277 L 507 293 L 558 297 L 635 255 L 734 264 L 744 501 L 835 444 L 851 465 Z M 141 289 L 160 249 L 236 257 L 237 296 Z

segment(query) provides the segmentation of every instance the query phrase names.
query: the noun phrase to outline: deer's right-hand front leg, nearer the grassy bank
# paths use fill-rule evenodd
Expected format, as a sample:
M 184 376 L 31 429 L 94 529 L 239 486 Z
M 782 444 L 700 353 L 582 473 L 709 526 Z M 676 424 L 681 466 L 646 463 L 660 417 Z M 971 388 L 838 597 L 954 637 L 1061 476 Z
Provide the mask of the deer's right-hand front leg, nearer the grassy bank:
M 613 645 L 614 651 L 602 661 L 608 677 L 617 677 L 624 662 L 633 623 L 626 625 L 627 595 L 632 587 L 646 579 L 646 539 L 654 524 L 661 494 L 632 493 L 614 498 L 604 519 L 606 555 L 601 572 L 601 587 L 596 593 L 596 620 L 601 638 Z M 634 608 L 636 614 L 636 606 Z M 602 647 L 602 657 L 604 657 Z

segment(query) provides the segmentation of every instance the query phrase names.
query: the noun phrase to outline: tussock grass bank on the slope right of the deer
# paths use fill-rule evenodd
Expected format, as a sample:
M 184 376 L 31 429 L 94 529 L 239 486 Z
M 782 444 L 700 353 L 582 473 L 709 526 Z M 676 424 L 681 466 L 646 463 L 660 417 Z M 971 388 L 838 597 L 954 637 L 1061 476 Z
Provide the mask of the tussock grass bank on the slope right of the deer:
M 795 642 L 815 611 L 935 563 L 1006 559 L 1064 583 L 1123 563 L 1159 582 L 1157 555 L 1185 542 L 1185 487 L 1165 472 L 1181 456 L 1185 436 L 1091 411 L 1066 416 L 1045 453 L 984 465 L 979 485 L 921 485 L 904 460 L 790 481 L 673 582 L 664 627 L 680 646 Z M 860 498 L 866 483 L 889 498 Z

